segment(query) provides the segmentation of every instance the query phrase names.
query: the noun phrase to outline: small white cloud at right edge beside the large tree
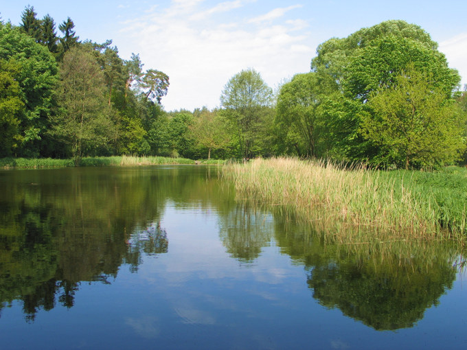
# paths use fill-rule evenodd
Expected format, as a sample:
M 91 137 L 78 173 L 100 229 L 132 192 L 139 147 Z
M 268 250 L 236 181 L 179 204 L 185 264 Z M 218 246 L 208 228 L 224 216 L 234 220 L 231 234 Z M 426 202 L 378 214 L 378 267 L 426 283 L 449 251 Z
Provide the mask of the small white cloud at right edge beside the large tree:
M 462 33 L 440 43 L 440 51 L 446 55 L 449 67 L 459 71 L 462 84 L 467 84 L 467 33 Z

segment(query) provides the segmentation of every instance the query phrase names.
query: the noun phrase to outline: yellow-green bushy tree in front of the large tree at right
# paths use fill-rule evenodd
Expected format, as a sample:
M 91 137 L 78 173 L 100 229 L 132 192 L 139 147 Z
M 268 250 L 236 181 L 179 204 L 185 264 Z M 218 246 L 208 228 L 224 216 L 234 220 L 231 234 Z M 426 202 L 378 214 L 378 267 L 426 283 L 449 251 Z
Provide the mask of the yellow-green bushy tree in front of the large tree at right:
M 382 161 L 407 170 L 452 163 L 466 149 L 464 113 L 432 77 L 409 65 L 392 86 L 370 93 L 361 132 L 380 147 Z

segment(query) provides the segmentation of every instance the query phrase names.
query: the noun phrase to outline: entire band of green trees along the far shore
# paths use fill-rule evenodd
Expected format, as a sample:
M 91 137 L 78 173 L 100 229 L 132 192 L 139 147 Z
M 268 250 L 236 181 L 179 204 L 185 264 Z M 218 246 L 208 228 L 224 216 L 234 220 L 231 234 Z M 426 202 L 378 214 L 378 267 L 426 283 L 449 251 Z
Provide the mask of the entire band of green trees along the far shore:
M 464 164 L 467 94 L 420 26 L 385 21 L 330 38 L 273 91 L 244 69 L 220 108 L 163 109 L 170 72 L 80 40 L 27 6 L 0 22 L 0 158 L 299 156 L 384 169 Z

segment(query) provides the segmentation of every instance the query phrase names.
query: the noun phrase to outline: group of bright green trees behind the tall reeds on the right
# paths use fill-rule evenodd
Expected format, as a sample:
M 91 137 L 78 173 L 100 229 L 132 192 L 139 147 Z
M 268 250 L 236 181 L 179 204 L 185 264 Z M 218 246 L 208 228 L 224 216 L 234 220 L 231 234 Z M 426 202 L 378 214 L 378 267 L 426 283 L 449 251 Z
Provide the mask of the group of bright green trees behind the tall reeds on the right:
M 276 104 L 251 70 L 227 83 L 221 103 L 245 157 L 273 152 L 433 168 L 466 161 L 467 97 L 459 82 L 428 33 L 386 21 L 319 45 L 311 71 L 283 84 Z

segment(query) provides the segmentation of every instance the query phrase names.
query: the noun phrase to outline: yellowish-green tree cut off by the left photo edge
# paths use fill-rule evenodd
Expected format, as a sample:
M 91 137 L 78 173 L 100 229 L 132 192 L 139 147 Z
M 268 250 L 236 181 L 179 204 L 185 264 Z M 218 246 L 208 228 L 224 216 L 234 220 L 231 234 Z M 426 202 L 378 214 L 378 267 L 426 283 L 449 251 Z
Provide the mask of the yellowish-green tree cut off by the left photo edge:
M 19 65 L 0 60 L 0 157 L 11 156 L 18 146 L 20 115 L 24 103 L 19 96 L 19 83 L 15 80 Z

